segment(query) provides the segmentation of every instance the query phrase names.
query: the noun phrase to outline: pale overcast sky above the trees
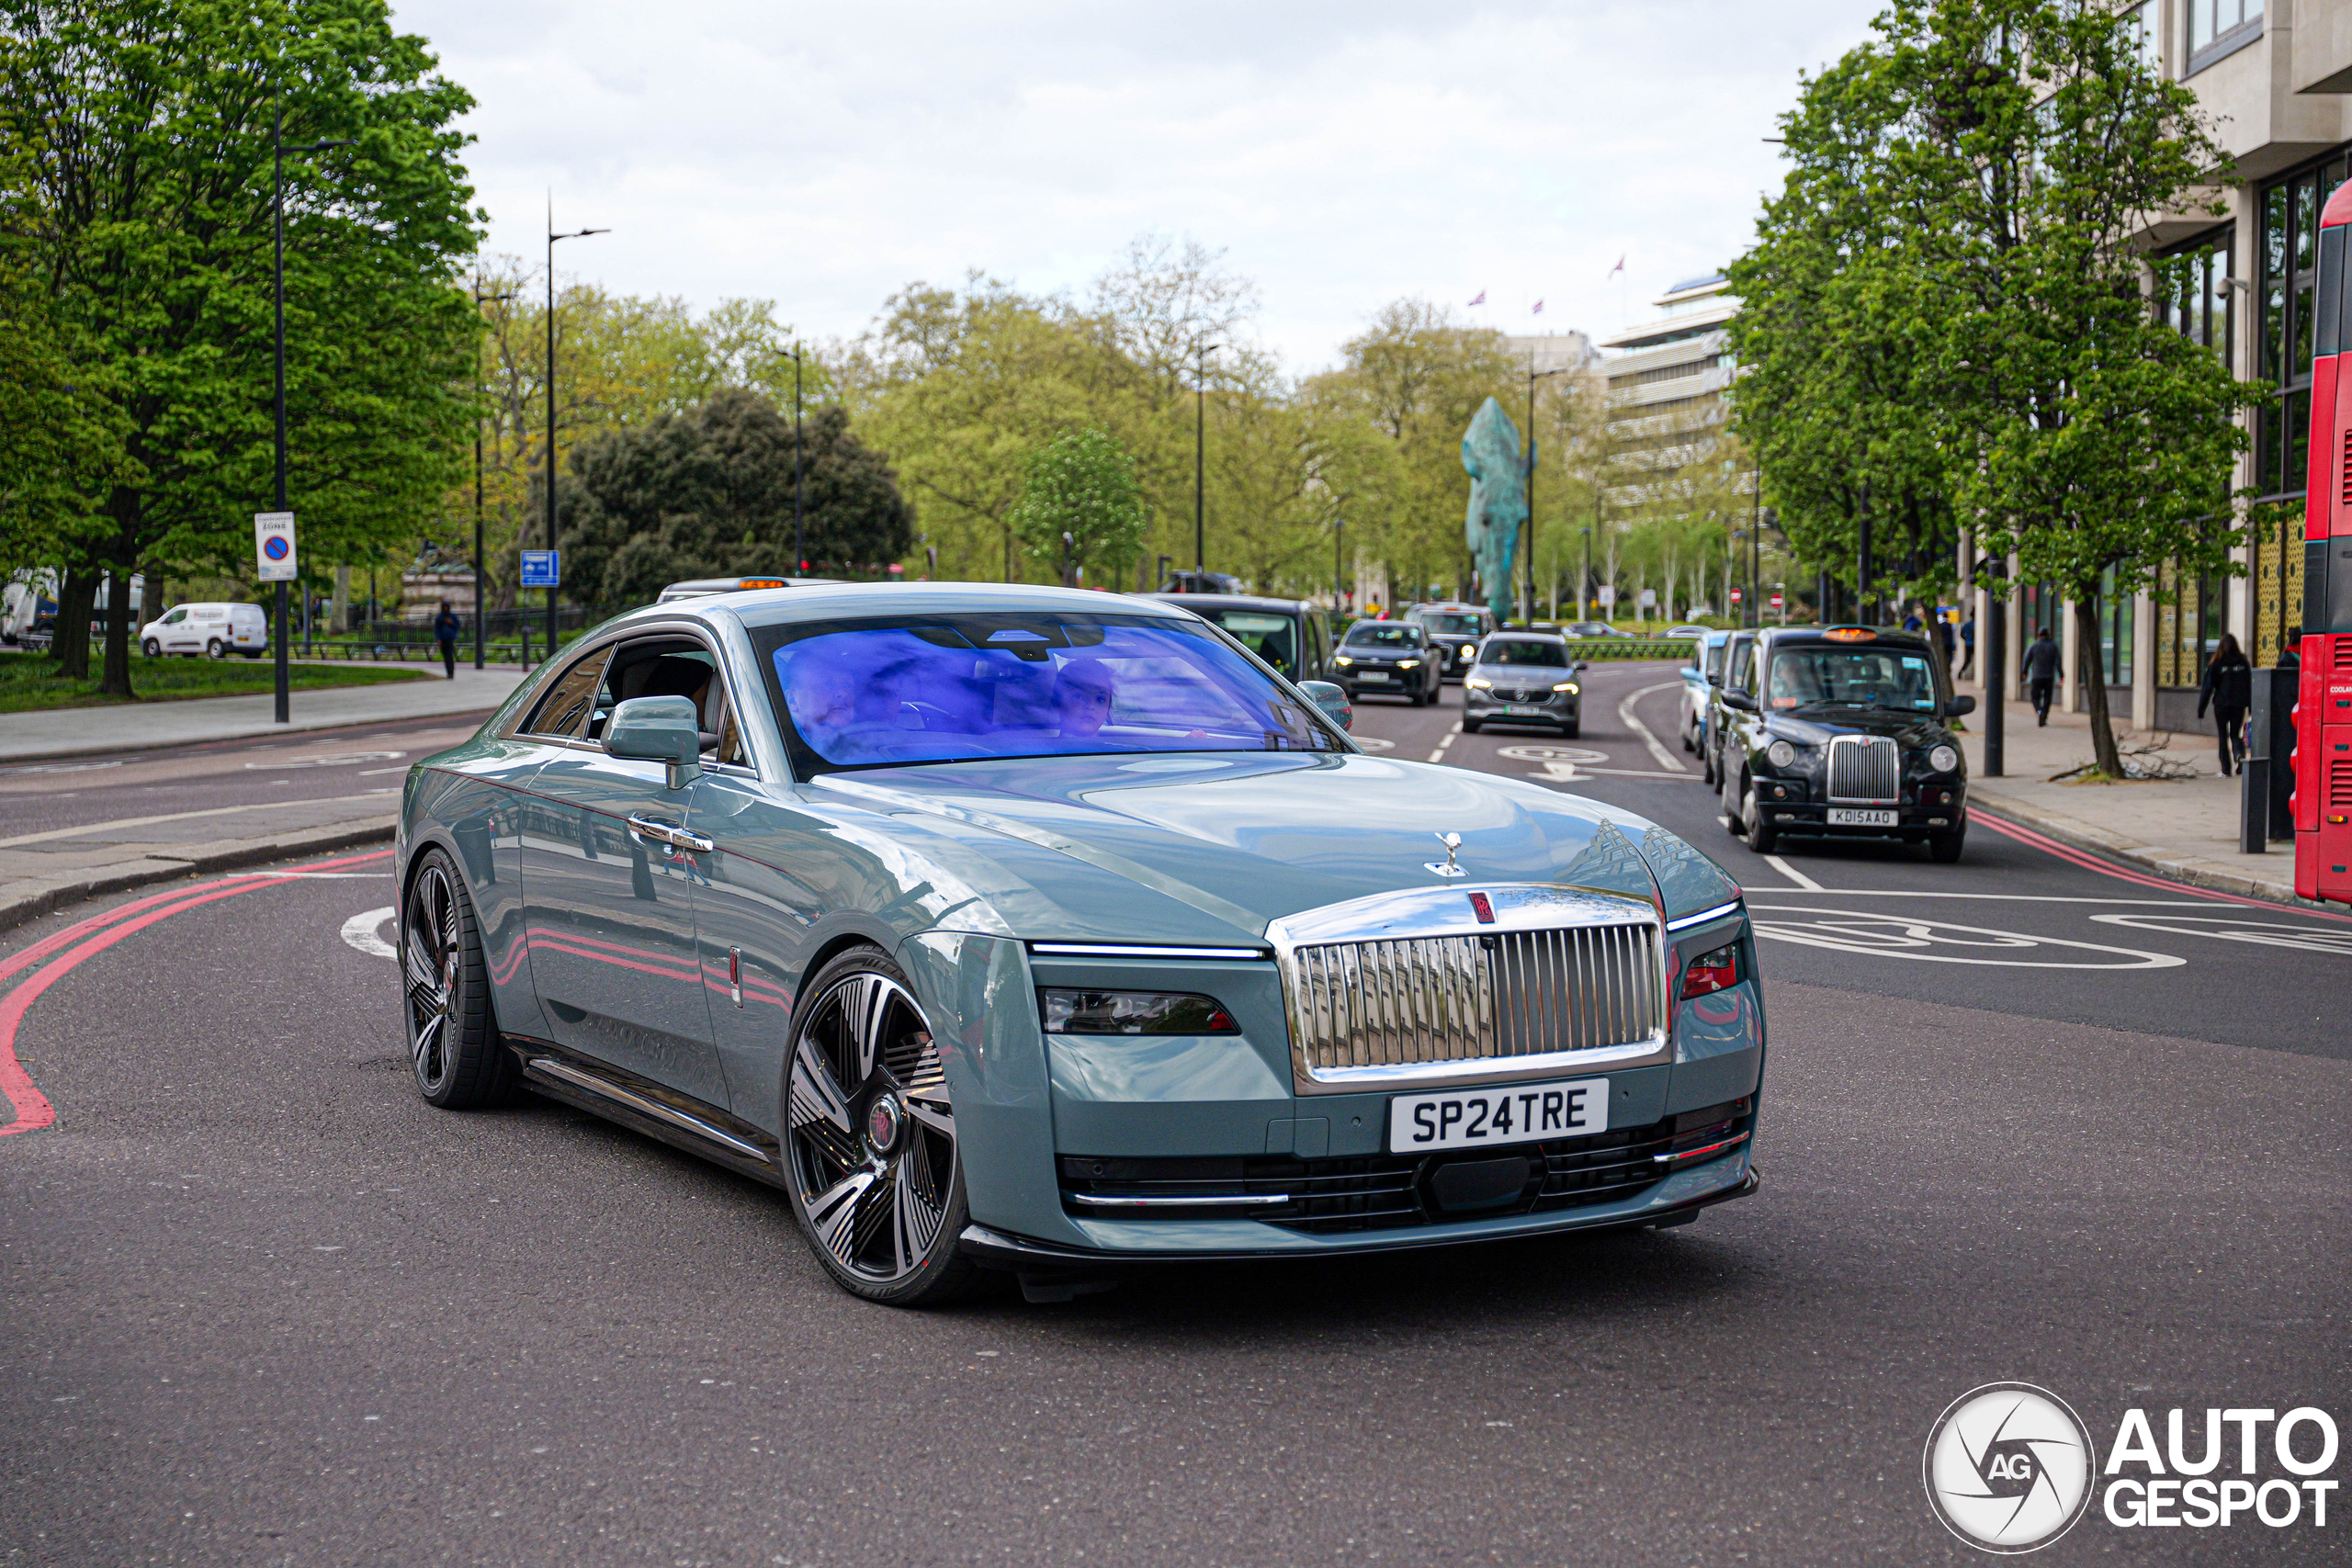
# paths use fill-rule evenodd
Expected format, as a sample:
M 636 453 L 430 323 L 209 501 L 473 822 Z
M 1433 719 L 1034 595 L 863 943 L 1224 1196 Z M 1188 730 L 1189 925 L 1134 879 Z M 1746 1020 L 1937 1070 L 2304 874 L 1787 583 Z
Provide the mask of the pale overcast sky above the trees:
M 1879 0 L 395 0 L 480 108 L 489 249 L 854 336 L 908 282 L 1221 247 L 1324 367 L 1399 296 L 1604 336 L 1748 242 L 1773 115 Z M 1625 273 L 1609 277 L 1618 256 Z M 1534 303 L 1543 299 L 1543 315 Z

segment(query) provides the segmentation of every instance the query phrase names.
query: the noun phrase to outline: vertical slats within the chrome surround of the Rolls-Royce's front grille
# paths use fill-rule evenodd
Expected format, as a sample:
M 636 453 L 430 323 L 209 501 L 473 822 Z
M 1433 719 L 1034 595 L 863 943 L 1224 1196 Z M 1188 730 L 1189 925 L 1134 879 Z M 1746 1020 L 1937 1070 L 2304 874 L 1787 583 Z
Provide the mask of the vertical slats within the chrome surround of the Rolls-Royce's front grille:
M 1294 950 L 1287 978 L 1310 1077 L 1665 1034 L 1656 926 L 1322 943 Z

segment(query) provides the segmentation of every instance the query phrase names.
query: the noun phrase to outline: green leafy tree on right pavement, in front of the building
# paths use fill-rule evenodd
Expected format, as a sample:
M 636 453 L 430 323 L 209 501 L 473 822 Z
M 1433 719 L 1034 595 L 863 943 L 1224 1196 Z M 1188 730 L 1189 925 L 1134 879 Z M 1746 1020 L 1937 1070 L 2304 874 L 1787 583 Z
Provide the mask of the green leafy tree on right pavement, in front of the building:
M 2227 160 L 2110 7 L 1896 0 L 1783 125 L 1790 186 L 1733 284 L 1740 428 L 1792 538 L 1832 543 L 1846 463 L 1875 480 L 1851 515 L 1950 505 L 1983 557 L 2065 588 L 2084 649 L 2107 574 L 2122 597 L 2166 559 L 2232 569 L 2241 531 L 2204 524 L 2232 520 L 2251 388 L 2154 320 L 2133 252 Z

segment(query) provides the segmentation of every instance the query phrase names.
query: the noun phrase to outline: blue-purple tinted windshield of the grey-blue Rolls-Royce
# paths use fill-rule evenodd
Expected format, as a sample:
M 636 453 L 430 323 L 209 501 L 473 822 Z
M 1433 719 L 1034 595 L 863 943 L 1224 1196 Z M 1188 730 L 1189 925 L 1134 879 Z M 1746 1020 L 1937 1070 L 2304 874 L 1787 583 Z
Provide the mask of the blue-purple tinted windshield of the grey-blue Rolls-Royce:
M 800 773 L 1120 752 L 1336 752 L 1207 628 L 1157 616 L 891 616 L 757 635 Z

